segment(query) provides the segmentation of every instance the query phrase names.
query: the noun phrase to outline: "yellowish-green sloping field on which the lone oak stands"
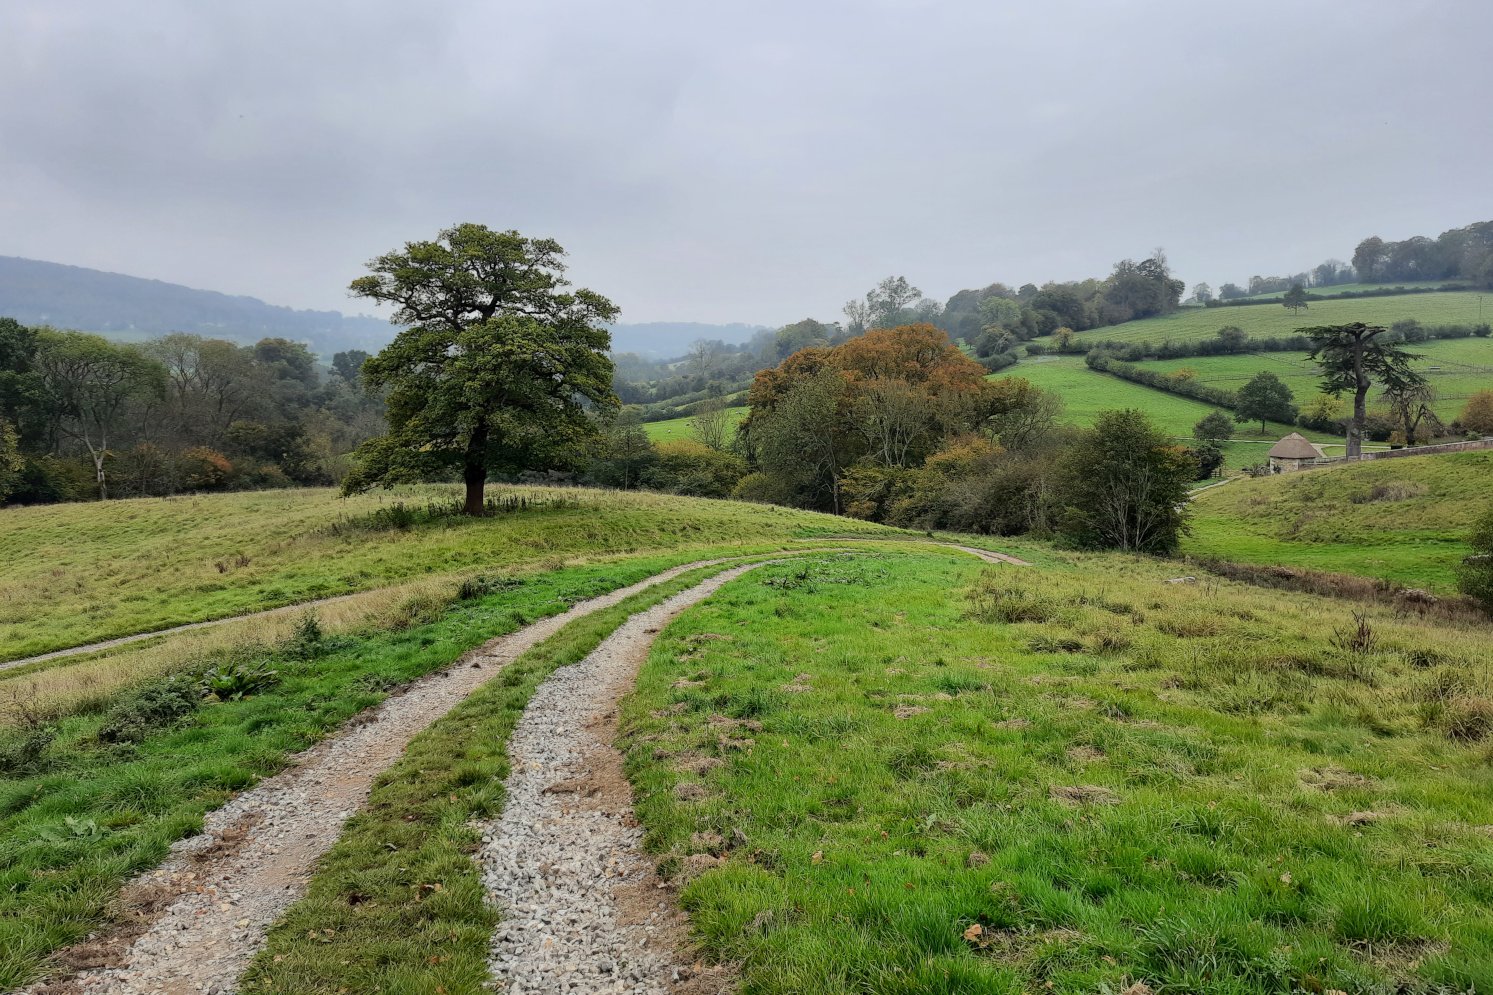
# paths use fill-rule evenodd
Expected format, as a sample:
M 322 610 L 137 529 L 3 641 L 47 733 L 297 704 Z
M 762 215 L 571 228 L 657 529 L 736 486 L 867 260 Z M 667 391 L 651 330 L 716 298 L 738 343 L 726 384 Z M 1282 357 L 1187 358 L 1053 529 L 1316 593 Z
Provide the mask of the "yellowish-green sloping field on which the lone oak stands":
M 0 511 L 0 660 L 433 575 L 890 530 L 767 505 L 584 489 L 267 490 Z

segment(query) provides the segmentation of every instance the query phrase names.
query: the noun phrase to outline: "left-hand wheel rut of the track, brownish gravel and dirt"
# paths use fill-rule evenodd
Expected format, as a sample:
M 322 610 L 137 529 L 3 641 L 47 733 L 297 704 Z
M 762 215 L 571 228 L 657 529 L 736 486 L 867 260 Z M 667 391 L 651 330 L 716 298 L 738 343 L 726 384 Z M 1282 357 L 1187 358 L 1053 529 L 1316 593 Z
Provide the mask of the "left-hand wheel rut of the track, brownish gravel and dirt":
M 133 922 L 60 956 L 72 979 L 30 992 L 200 995 L 233 992 L 269 926 L 306 890 L 317 859 L 367 799 L 421 729 L 490 680 L 499 668 L 570 622 L 687 571 L 655 574 L 493 639 L 405 693 L 352 719 L 348 728 L 206 817 L 203 832 L 179 841 L 154 871 L 121 893 Z M 694 589 L 699 590 L 699 589 Z

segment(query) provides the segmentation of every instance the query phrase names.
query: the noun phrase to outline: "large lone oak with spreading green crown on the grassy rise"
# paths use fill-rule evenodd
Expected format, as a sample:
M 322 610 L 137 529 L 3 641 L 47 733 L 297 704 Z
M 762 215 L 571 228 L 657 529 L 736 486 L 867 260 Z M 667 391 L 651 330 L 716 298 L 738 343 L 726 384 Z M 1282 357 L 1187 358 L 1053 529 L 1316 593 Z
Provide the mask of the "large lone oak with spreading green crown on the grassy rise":
M 345 490 L 458 471 L 479 515 L 491 472 L 551 466 L 594 433 L 591 408 L 617 403 L 617 308 L 564 290 L 563 260 L 552 239 L 458 224 L 369 263 L 351 293 L 409 327 L 363 366 L 388 390 L 390 430 L 360 447 Z

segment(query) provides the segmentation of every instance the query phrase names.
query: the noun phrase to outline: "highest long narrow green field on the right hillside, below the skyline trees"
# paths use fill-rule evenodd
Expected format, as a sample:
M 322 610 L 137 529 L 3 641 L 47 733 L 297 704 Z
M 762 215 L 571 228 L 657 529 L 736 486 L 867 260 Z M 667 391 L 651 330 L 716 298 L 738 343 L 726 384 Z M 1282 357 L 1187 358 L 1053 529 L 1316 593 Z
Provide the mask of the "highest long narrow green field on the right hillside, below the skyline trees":
M 1480 299 L 1483 302 L 1480 309 Z M 1481 314 L 1481 317 L 1480 317 Z M 1188 342 L 1212 338 L 1224 326 L 1238 326 L 1248 335 L 1284 336 L 1296 329 L 1315 324 L 1368 321 L 1393 324 L 1415 318 L 1421 324 L 1480 324 L 1493 321 L 1493 294 L 1459 290 L 1435 294 L 1405 294 L 1402 297 L 1359 297 L 1351 300 L 1314 300 L 1300 312 L 1284 306 L 1257 305 L 1248 308 L 1182 308 L 1168 315 L 1126 321 L 1106 329 L 1081 332 L 1082 339 L 1115 342 Z M 1047 339 L 1044 339 L 1045 342 Z

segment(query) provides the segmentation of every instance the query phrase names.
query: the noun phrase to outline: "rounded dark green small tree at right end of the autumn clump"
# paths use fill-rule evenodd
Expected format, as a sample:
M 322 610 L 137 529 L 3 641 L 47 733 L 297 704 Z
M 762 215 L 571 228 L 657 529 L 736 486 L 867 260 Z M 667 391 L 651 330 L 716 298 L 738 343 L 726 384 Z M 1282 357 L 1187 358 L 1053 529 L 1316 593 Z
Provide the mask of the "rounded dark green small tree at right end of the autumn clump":
M 1063 454 L 1059 527 L 1081 547 L 1172 553 L 1196 475 L 1196 460 L 1145 412 L 1105 411 Z

